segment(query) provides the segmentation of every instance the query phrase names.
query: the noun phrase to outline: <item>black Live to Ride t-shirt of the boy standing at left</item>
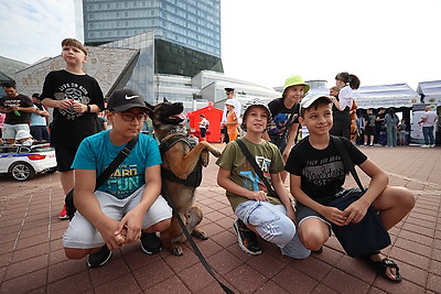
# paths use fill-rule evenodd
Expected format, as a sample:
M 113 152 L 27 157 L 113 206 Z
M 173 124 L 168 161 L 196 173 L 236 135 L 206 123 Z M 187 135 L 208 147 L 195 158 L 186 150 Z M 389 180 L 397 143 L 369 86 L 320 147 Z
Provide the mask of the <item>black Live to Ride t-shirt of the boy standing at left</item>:
M 97 105 L 104 109 L 104 97 L 97 80 L 89 75 L 74 75 L 66 70 L 47 74 L 42 99 L 75 99 L 85 105 Z M 84 138 L 98 131 L 96 113 L 77 113 L 73 108 L 54 108 L 51 129 L 51 144 L 54 146 L 77 148 Z

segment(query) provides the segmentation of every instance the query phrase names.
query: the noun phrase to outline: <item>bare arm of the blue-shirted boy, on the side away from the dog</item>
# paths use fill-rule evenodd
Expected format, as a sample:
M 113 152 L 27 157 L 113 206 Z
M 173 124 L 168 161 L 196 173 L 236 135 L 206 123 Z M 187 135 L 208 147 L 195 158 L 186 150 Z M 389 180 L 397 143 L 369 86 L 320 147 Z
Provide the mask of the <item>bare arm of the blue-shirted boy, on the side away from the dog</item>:
M 103 213 L 99 202 L 94 195 L 95 184 L 95 170 L 75 170 L 75 206 L 99 231 L 107 247 L 110 250 L 115 250 L 122 244 L 121 236 L 115 235 L 115 231 L 118 230 L 119 221 Z

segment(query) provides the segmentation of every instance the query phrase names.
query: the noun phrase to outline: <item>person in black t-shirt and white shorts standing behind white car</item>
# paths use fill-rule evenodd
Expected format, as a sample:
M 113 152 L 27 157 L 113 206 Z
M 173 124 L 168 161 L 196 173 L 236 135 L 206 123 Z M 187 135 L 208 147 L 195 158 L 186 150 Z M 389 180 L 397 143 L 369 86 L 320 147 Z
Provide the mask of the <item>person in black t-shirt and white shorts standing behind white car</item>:
M 7 95 L 0 98 L 0 112 L 6 113 L 2 137 L 13 144 L 20 130 L 30 131 L 28 123 L 35 109 L 31 98 L 17 92 L 14 84 L 4 83 L 3 90 Z

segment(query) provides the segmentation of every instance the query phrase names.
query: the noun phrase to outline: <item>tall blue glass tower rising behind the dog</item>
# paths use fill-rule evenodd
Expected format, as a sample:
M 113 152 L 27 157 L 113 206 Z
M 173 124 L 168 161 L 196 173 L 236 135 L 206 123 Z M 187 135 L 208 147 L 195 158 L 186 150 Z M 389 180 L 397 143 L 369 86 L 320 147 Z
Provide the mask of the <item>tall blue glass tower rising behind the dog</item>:
M 83 0 L 83 26 L 92 46 L 152 30 L 157 74 L 224 72 L 220 0 Z

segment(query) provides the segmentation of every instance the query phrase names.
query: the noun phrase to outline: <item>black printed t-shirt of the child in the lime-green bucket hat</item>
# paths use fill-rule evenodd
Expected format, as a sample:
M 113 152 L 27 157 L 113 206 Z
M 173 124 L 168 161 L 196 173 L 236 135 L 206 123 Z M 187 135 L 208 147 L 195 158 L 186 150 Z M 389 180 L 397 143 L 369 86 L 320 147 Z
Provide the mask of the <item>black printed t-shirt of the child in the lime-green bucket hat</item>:
M 299 122 L 300 105 L 295 104 L 292 108 L 287 108 L 283 105 L 283 98 L 273 99 L 268 104 L 271 111 L 272 121 L 268 128 L 269 135 L 282 135 L 287 126 Z M 289 117 L 292 116 L 292 121 L 288 122 Z

